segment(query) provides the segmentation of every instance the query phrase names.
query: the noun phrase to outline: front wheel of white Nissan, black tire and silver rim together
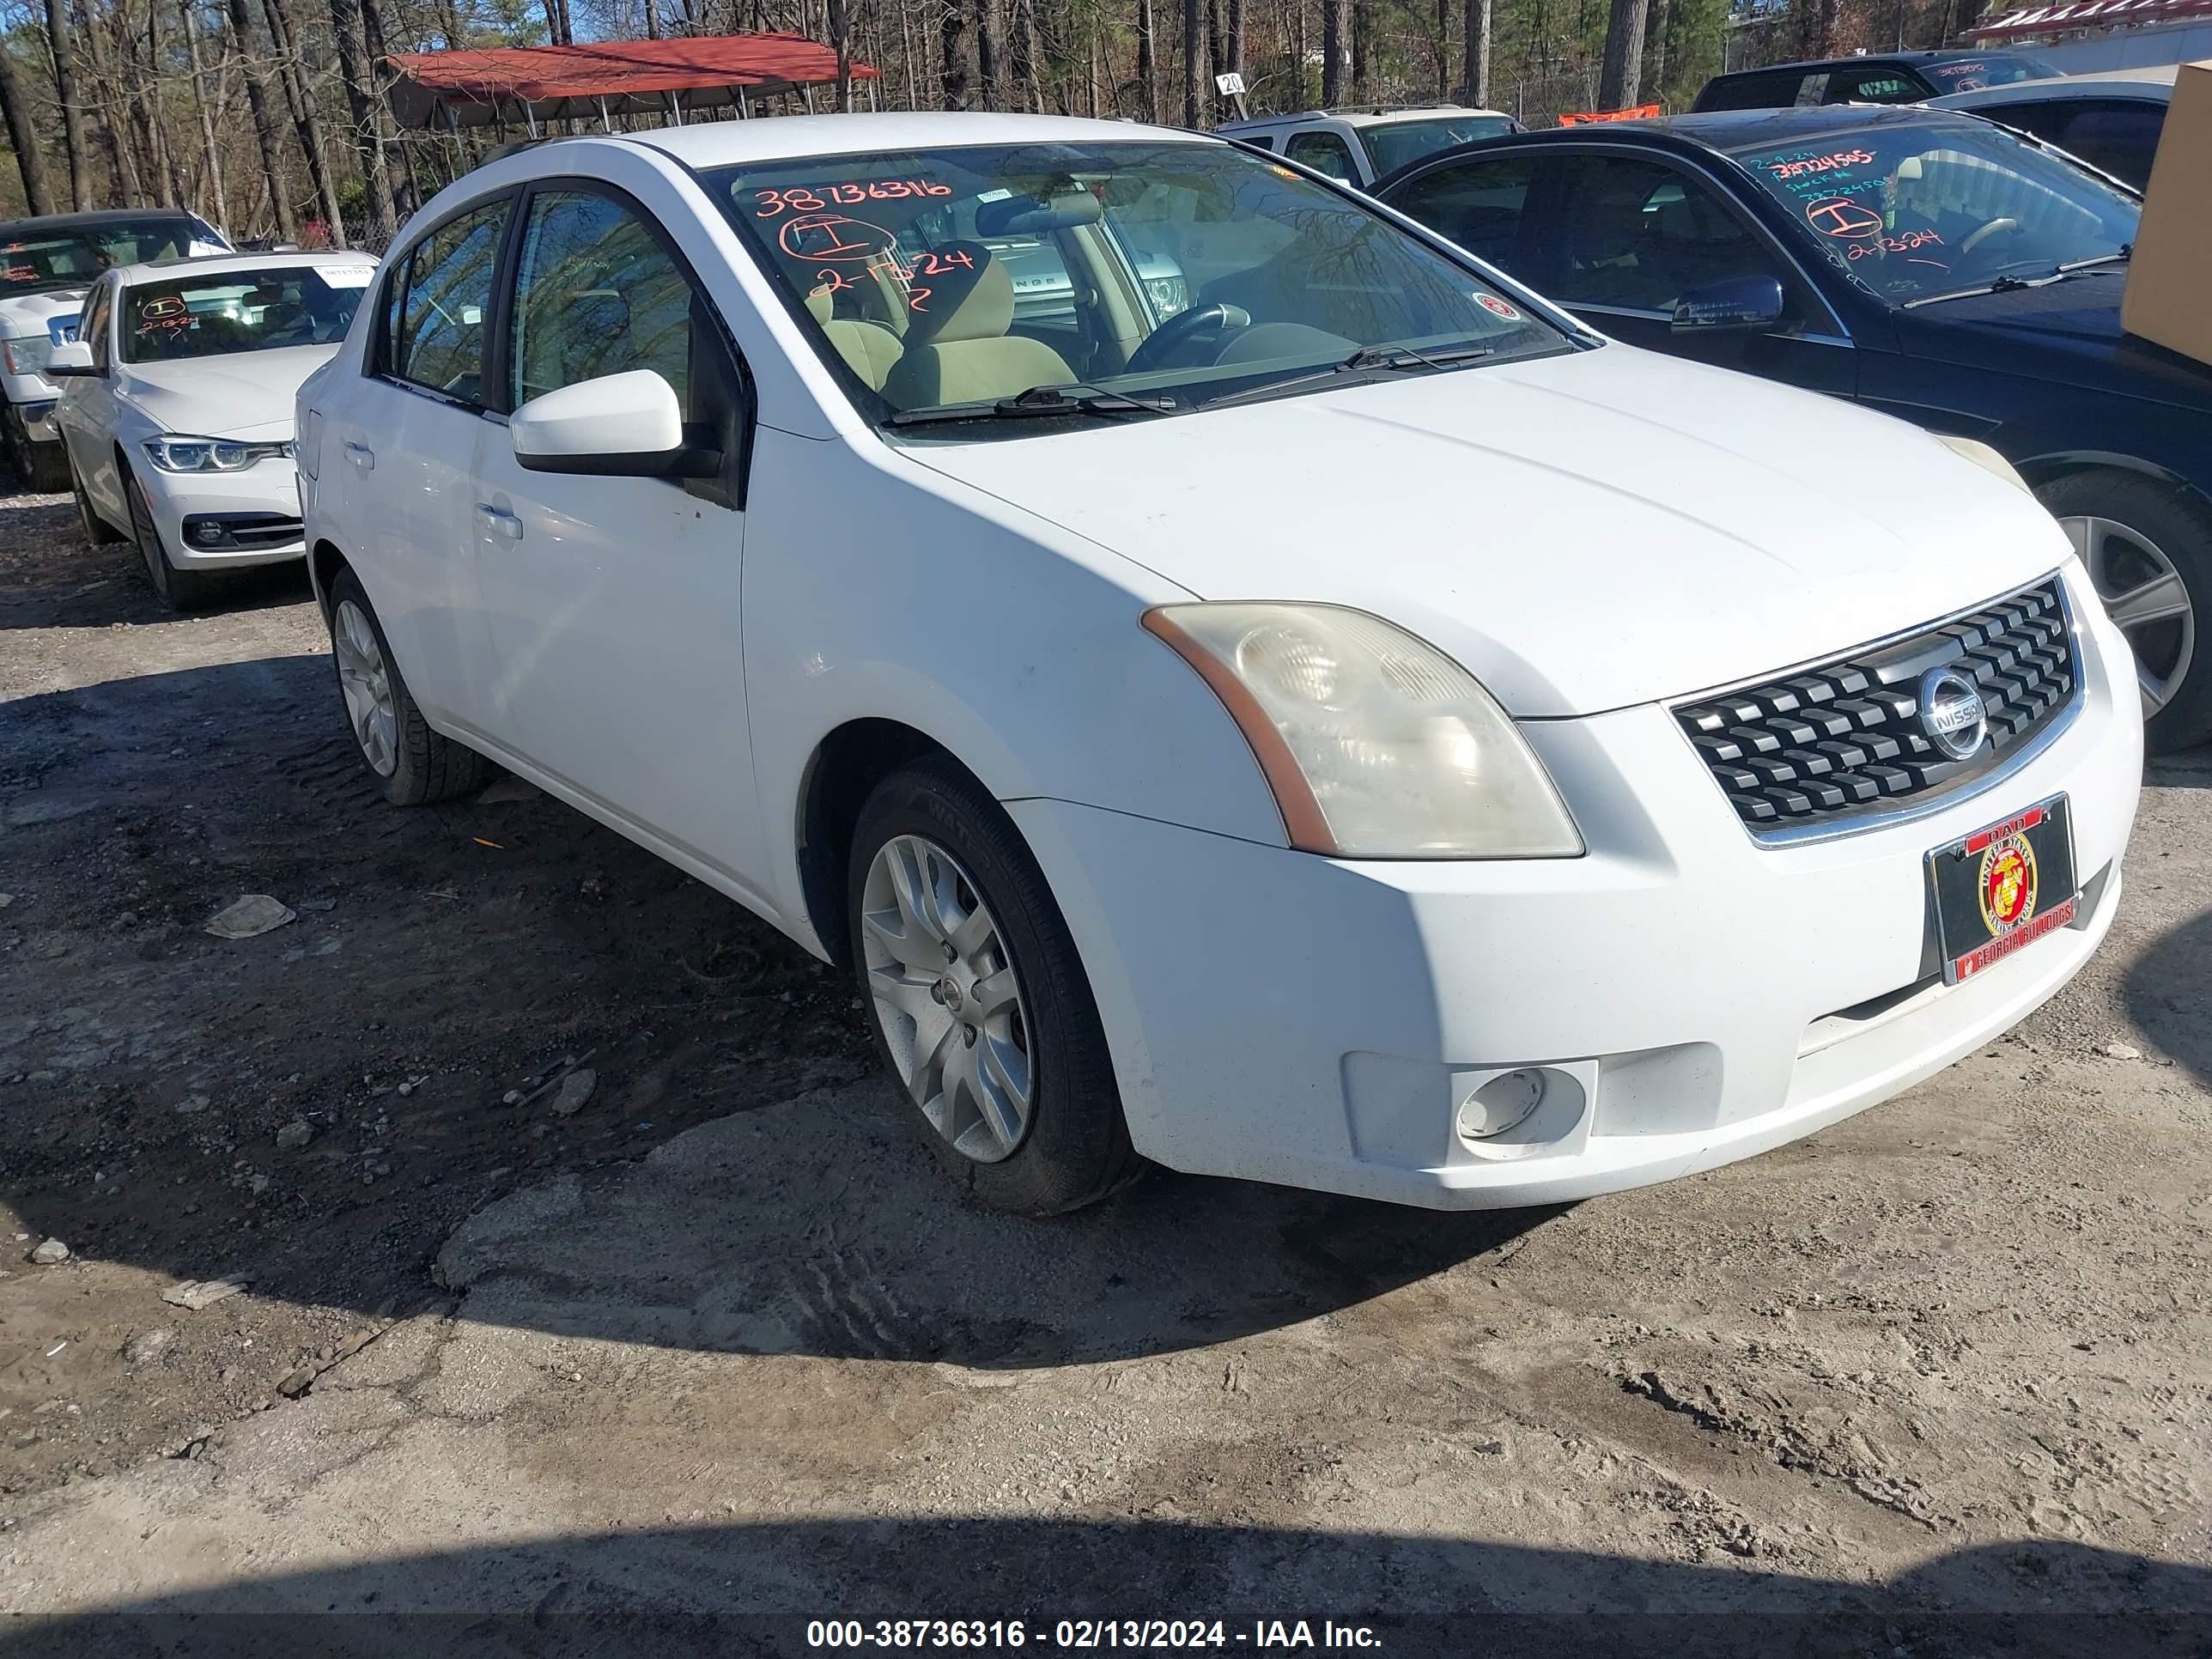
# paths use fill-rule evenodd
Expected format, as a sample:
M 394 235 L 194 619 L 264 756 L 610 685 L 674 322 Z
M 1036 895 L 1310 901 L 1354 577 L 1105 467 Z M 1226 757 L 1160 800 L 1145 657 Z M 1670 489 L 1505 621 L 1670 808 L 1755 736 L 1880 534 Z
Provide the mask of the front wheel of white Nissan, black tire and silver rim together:
M 1144 1170 L 1075 940 L 973 779 L 933 759 L 876 785 L 845 898 L 876 1053 L 960 1186 L 1044 1217 Z

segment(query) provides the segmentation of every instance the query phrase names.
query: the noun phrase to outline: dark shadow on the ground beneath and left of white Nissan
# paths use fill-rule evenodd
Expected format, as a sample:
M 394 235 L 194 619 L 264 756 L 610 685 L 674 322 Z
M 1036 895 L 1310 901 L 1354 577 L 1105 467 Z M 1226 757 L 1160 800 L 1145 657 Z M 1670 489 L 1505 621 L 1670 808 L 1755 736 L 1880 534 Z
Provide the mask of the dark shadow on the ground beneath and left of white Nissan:
M 1170 1177 L 1048 1225 L 973 1210 L 841 973 L 549 799 L 385 805 L 327 675 L 0 706 L 0 1190 L 80 1261 L 392 1312 L 520 1192 L 442 1263 L 471 1318 L 1022 1367 L 1310 1318 L 1544 1219 Z M 299 916 L 210 938 L 241 894 Z M 509 1099 L 564 1057 L 580 1110 Z

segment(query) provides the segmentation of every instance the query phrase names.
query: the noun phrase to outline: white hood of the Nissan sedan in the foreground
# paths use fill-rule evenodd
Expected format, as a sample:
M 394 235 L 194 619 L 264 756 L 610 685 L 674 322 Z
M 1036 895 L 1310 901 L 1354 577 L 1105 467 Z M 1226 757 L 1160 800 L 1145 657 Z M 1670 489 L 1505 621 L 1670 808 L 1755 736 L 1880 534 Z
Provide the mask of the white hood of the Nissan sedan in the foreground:
M 1834 657 L 2068 557 L 1918 427 L 1626 345 L 907 453 L 1199 597 L 1389 617 L 1522 717 Z

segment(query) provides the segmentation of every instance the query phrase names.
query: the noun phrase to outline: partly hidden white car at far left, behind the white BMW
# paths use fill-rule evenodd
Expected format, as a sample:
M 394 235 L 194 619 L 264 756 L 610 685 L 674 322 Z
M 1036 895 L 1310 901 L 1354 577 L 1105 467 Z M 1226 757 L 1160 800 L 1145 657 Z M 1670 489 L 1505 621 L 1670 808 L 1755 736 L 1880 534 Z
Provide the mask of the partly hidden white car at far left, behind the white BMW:
M 100 272 L 150 259 L 228 254 L 197 212 L 122 208 L 0 223 L 0 442 L 24 489 L 69 489 L 46 354 L 77 338 L 77 312 Z

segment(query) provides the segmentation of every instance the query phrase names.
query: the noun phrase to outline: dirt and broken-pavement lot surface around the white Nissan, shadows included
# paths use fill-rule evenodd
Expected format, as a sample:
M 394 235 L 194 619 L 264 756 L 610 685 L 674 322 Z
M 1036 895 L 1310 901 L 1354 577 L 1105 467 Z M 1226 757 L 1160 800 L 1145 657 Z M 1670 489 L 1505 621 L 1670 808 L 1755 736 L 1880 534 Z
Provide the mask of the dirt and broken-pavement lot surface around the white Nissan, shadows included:
M 737 907 L 509 781 L 385 807 L 303 577 L 164 617 L 66 500 L 4 502 L 0 1648 L 1467 1652 L 1422 1617 L 1478 1610 L 2205 1652 L 2208 785 L 2154 768 L 2057 1002 L 1807 1144 L 1573 1210 L 1157 1175 L 1018 1223 Z M 204 931 L 243 894 L 294 920 Z

